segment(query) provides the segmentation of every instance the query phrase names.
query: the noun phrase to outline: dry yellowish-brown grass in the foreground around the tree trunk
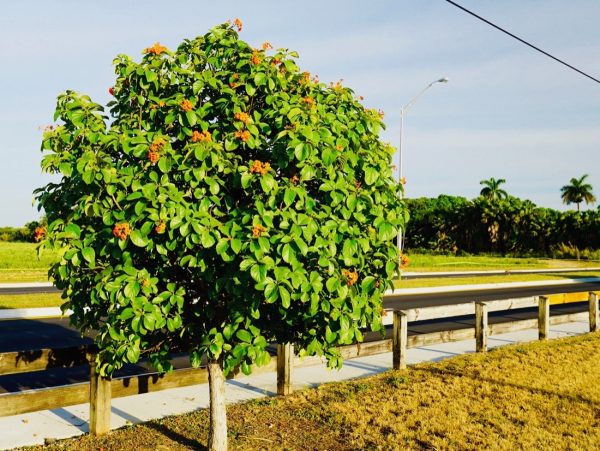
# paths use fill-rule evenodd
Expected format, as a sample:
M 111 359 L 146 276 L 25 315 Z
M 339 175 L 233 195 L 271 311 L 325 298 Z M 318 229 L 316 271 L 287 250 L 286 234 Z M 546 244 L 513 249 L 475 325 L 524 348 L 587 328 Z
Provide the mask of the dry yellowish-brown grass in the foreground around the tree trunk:
M 597 449 L 600 333 L 512 345 L 228 407 L 230 449 Z M 204 449 L 208 412 L 49 450 Z

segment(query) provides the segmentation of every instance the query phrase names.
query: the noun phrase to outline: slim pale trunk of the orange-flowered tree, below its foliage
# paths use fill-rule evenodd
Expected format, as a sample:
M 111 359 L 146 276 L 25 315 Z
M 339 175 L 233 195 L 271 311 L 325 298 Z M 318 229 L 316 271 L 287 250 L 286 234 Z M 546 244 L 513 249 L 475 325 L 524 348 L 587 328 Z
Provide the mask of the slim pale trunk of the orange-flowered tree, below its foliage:
M 208 386 L 210 389 L 208 449 L 210 451 L 227 451 L 227 411 L 222 359 L 208 360 Z

